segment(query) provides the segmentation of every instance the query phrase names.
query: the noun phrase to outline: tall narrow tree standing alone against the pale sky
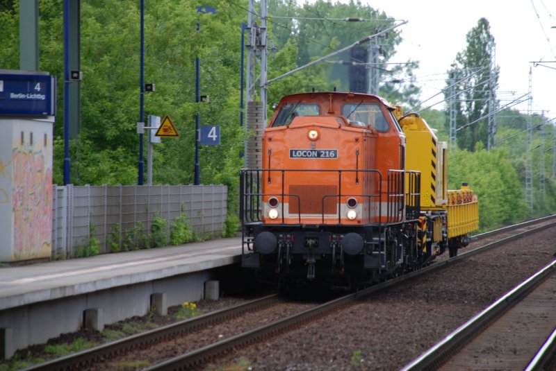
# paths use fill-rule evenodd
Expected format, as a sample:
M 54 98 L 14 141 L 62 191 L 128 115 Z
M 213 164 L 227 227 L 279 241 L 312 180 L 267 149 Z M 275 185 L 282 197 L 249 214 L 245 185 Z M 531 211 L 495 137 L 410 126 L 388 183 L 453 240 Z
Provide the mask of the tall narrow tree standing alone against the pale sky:
M 457 53 L 446 81 L 447 87 L 455 82 L 453 89 L 446 89 L 446 101 L 457 94 L 456 121 L 457 143 L 460 148 L 475 150 L 481 142 L 486 146 L 489 99 L 496 99 L 500 68 L 493 65 L 492 49 L 494 37 L 490 33 L 489 21 L 477 21 L 477 26 L 466 35 L 467 46 Z M 448 125 L 448 123 L 446 123 Z

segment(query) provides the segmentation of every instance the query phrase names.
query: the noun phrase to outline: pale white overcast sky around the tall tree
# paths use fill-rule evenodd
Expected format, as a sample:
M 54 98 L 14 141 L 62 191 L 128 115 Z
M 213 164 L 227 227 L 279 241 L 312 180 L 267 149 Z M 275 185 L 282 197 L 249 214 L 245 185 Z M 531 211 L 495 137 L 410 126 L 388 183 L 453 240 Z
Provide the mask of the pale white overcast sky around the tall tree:
M 395 19 L 404 41 L 391 62 L 409 58 L 420 61 L 416 71 L 421 100 L 445 87 L 446 71 L 459 51 L 466 48 L 466 34 L 484 17 L 496 42 L 496 64 L 500 67 L 497 97 L 507 105 L 529 92 L 532 71 L 532 110 L 556 117 L 556 2 L 553 0 L 362 0 Z M 552 28 L 555 27 L 555 28 Z M 526 98 L 526 96 L 525 96 Z M 424 103 L 432 105 L 443 94 Z M 443 109 L 443 103 L 435 105 Z M 512 107 L 524 113 L 525 101 Z M 539 112 L 540 113 L 540 112 Z

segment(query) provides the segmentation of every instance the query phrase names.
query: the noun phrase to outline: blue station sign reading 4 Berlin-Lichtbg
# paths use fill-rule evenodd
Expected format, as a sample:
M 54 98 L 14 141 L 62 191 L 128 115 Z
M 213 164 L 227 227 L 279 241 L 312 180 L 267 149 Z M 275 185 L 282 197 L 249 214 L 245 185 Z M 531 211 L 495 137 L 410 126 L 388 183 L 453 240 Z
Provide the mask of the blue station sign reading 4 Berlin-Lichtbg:
M 56 77 L 42 74 L 0 74 L 0 116 L 54 116 Z

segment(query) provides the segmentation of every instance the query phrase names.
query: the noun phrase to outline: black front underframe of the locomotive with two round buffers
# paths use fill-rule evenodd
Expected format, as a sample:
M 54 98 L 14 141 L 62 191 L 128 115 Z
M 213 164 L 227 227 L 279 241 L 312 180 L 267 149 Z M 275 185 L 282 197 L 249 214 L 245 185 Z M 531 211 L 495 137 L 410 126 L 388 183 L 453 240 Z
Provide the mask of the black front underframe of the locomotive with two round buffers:
M 268 228 L 261 223 L 250 225 L 254 235 L 249 244 L 247 264 L 275 278 L 287 275 L 291 279 L 314 279 L 315 273 L 328 279 L 336 276 L 360 283 L 370 283 L 378 277 L 402 273 L 418 257 L 416 232 L 413 225 L 378 226 L 357 229 L 336 227 L 292 228 L 282 225 Z M 245 263 L 245 261 L 244 261 Z M 345 277 L 344 277 L 345 276 Z

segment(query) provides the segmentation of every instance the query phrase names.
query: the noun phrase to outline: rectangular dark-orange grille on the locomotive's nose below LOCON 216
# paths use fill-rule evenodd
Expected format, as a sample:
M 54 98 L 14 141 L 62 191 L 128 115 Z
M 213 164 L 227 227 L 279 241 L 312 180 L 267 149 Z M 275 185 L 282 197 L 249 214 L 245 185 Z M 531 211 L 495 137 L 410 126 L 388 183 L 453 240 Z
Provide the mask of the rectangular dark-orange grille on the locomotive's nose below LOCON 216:
M 335 185 L 291 185 L 288 193 L 297 195 L 290 197 L 290 214 L 336 214 L 338 212 L 338 186 Z M 322 210 L 322 198 L 324 200 L 324 210 Z M 301 205 L 300 205 L 301 203 Z

